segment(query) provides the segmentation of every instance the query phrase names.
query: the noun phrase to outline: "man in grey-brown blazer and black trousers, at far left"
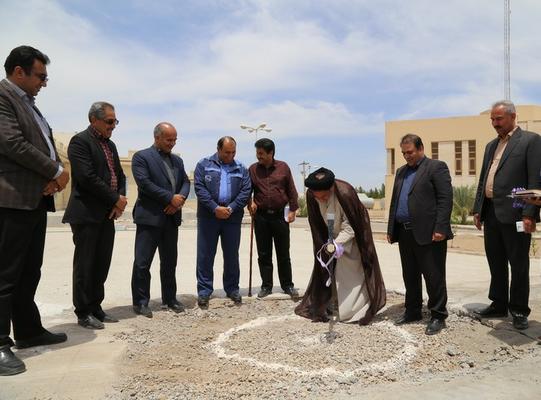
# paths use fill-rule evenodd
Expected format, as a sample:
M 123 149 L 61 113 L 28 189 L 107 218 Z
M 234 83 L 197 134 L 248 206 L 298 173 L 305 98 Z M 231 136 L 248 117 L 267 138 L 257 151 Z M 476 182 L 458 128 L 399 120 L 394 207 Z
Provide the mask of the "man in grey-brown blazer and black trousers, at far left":
M 30 46 L 11 51 L 0 82 L 0 375 L 25 371 L 11 351 L 64 342 L 64 333 L 41 325 L 34 295 L 41 276 L 47 211 L 69 174 L 58 157 L 52 130 L 34 104 L 47 86 L 49 58 Z

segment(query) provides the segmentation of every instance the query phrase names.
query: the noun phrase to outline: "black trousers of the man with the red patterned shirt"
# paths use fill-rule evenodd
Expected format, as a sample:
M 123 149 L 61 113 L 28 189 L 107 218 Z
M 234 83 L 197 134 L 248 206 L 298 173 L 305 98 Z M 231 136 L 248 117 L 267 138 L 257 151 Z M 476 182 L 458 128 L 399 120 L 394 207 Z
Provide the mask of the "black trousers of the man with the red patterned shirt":
M 73 253 L 73 305 L 78 318 L 100 313 L 105 281 L 111 265 L 115 225 L 112 219 L 93 224 L 71 224 Z

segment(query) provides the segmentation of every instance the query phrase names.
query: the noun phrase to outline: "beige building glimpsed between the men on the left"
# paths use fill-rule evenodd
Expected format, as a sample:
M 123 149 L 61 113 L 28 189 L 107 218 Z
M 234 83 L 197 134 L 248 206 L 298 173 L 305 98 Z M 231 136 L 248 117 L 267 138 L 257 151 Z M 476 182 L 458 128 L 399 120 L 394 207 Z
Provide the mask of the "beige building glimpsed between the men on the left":
M 60 155 L 60 158 L 64 162 L 64 167 L 67 168 L 68 172 L 71 176 L 71 165 L 68 160 L 68 145 L 71 137 L 75 135 L 75 133 L 55 133 L 54 139 L 56 148 L 58 150 L 58 154 Z M 127 156 L 120 156 L 120 164 L 122 165 L 122 169 L 124 170 L 124 174 L 126 175 L 126 197 L 128 198 L 128 208 L 133 207 L 135 204 L 135 200 L 137 200 L 137 184 L 135 183 L 135 179 L 133 179 L 133 173 L 131 171 L 131 159 L 133 155 L 137 152 L 137 150 L 130 150 L 128 152 Z M 192 189 L 190 190 L 190 196 L 193 194 L 193 171 L 188 173 L 190 181 L 192 182 Z M 66 206 L 68 205 L 69 196 L 71 193 L 71 182 L 68 183 L 68 186 L 65 190 L 63 190 L 60 193 L 57 193 L 55 195 L 55 204 L 56 209 L 58 211 L 64 210 Z

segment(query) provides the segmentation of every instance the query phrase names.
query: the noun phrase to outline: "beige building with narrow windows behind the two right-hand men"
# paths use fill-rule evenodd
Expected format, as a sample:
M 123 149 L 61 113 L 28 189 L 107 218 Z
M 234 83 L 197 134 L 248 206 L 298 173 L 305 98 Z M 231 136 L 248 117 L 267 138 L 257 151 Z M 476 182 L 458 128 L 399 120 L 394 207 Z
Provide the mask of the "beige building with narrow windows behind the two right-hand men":
M 517 106 L 519 126 L 541 134 L 541 106 Z M 487 143 L 496 137 L 490 122 L 490 110 L 479 115 L 389 121 L 385 123 L 385 208 L 391 201 L 395 171 L 405 164 L 400 139 L 415 133 L 423 139 L 425 154 L 447 163 L 453 186 L 476 185 Z

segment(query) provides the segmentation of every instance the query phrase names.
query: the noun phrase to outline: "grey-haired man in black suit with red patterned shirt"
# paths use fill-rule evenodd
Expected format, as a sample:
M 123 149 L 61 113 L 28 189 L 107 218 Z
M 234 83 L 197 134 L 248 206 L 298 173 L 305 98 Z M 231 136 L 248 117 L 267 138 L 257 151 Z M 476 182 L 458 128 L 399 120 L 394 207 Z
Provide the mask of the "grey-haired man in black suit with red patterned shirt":
M 68 146 L 72 185 L 62 222 L 71 225 L 73 254 L 73 305 L 77 323 L 103 329 L 103 322 L 118 322 L 101 308 L 109 273 L 114 220 L 127 204 L 126 177 L 110 137 L 118 124 L 115 108 L 96 102 L 88 112 L 90 126 L 75 135 Z

